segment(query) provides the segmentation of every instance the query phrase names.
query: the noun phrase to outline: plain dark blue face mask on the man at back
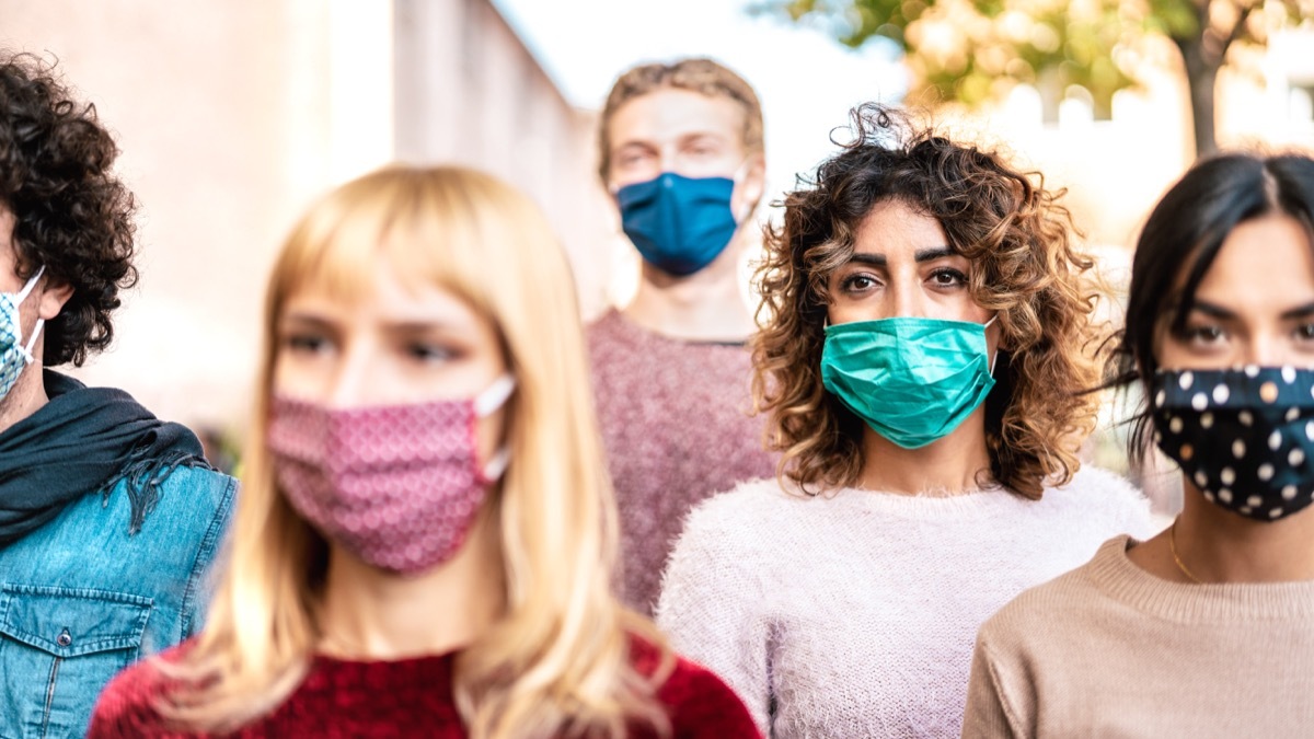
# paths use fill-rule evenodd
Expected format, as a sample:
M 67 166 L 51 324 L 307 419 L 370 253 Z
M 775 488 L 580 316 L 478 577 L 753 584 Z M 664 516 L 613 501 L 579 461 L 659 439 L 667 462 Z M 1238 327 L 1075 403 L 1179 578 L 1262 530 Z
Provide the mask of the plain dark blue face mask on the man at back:
M 662 172 L 616 191 L 622 229 L 653 267 L 678 277 L 692 275 L 725 251 L 738 227 L 731 210 L 733 192 L 735 180 L 728 178 Z

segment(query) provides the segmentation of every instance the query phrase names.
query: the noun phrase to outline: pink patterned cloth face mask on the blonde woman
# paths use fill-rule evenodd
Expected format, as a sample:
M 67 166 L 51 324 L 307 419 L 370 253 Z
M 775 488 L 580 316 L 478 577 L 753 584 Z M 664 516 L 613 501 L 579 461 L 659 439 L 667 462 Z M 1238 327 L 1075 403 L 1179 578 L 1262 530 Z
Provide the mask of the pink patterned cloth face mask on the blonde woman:
M 473 400 L 328 409 L 275 397 L 268 448 L 288 502 L 361 560 L 415 575 L 465 542 L 506 450 L 482 468 L 476 422 L 506 402 L 515 381 Z

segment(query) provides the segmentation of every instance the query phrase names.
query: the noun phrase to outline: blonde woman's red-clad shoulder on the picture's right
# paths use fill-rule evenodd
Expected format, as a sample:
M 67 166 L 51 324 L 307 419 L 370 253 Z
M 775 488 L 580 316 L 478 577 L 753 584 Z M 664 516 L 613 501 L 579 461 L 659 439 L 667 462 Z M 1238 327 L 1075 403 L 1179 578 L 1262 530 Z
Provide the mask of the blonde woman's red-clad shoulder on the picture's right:
M 632 640 L 631 655 L 643 675 L 660 669 L 664 656 L 674 660 L 657 688 L 657 700 L 666 709 L 675 736 L 761 736 L 744 702 L 710 669 L 678 655 L 664 655 L 639 638 Z

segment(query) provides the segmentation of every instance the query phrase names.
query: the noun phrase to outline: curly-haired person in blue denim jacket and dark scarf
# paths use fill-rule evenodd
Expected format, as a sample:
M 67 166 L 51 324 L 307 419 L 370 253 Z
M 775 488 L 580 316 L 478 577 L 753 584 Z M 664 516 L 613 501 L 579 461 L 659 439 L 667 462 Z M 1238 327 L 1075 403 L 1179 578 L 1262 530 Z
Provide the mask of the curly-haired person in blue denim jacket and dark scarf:
M 0 736 L 80 736 L 113 675 L 201 626 L 237 483 L 127 393 L 49 367 L 109 345 L 135 283 L 117 147 L 50 68 L 0 57 Z

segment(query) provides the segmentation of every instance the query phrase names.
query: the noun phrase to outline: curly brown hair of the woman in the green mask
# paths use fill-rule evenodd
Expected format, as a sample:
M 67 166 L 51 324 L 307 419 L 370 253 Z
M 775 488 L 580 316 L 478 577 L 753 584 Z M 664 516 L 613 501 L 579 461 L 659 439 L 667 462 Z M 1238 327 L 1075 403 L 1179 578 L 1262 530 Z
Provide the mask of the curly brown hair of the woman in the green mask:
M 803 490 L 854 484 L 862 421 L 825 392 L 828 279 L 854 252 L 854 234 L 878 203 L 901 200 L 936 218 L 971 262 L 968 291 L 1001 326 L 996 384 L 986 400 L 993 483 L 1039 498 L 1080 467 L 1079 442 L 1095 427 L 1100 331 L 1092 322 L 1093 262 L 1072 245 L 1072 218 L 1038 172 L 996 153 L 954 143 L 875 104 L 851 113 L 853 141 L 783 200 L 766 227 L 757 270 L 762 302 L 753 338 L 753 396 L 769 413 L 779 473 Z M 837 142 L 840 143 L 840 142 Z M 983 481 L 988 484 L 988 481 Z

